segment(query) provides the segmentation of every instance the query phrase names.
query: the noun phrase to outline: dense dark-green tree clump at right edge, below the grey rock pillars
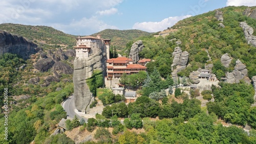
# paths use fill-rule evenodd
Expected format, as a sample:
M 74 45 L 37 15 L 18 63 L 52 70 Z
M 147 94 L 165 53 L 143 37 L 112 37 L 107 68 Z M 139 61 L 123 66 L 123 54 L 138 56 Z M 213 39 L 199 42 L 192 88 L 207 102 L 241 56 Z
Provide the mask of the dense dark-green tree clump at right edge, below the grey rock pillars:
M 255 126 L 255 117 L 251 117 L 253 108 L 250 107 L 253 103 L 253 87 L 245 83 L 221 82 L 219 85 L 221 88 L 214 85 L 211 87 L 215 102 L 207 103 L 207 110 L 216 113 L 227 122 L 244 126 L 249 123 Z

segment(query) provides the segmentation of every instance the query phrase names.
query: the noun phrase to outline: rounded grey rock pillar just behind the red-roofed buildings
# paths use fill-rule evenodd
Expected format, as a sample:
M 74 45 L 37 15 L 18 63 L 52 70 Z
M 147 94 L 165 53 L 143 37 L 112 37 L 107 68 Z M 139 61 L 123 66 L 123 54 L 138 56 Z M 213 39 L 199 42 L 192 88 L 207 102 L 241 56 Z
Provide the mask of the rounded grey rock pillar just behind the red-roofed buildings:
M 137 63 L 140 58 L 139 58 L 139 52 L 142 51 L 144 45 L 142 43 L 142 40 L 138 40 L 133 43 L 131 50 L 130 50 L 130 58 L 133 60 L 133 63 Z

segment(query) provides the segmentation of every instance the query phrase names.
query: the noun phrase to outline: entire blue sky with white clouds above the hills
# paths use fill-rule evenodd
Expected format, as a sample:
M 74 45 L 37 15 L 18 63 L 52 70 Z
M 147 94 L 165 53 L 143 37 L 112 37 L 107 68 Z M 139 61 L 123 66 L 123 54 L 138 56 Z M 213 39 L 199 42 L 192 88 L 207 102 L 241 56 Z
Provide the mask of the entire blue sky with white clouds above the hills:
M 158 32 L 181 19 L 255 0 L 1 0 L 0 23 L 49 26 L 72 35 L 105 29 Z

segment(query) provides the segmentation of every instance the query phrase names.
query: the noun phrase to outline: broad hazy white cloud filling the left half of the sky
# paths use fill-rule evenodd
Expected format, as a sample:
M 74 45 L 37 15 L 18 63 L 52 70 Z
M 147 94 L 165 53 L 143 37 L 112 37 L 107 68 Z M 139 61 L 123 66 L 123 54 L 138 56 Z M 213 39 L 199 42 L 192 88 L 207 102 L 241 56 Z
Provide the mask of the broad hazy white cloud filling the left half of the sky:
M 90 35 L 117 27 L 100 20 L 118 14 L 123 0 L 1 0 L 0 23 L 51 26 L 69 34 Z

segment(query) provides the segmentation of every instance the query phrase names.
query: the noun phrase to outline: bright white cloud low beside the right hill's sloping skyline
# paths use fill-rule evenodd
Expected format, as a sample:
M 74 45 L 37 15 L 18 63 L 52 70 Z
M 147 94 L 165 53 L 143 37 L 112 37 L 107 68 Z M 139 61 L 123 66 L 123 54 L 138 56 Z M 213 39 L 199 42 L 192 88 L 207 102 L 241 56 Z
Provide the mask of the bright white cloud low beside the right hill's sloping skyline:
M 158 32 L 167 29 L 167 27 L 172 27 L 181 19 L 190 17 L 191 15 L 185 16 L 174 16 L 163 19 L 159 22 L 137 22 L 133 25 L 133 29 L 138 29 L 146 32 Z

